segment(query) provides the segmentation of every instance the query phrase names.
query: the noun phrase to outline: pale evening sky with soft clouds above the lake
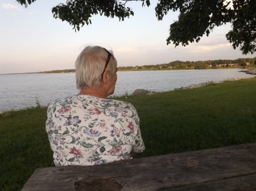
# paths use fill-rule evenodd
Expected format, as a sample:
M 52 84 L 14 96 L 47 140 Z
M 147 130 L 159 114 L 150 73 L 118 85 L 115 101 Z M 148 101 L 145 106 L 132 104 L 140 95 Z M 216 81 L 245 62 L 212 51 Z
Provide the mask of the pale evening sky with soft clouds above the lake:
M 233 49 L 225 34 L 230 24 L 214 28 L 209 37 L 188 46 L 166 44 L 169 26 L 177 12 L 162 21 L 155 16 L 158 1 L 142 7 L 127 2 L 134 16 L 118 18 L 93 16 L 92 24 L 75 32 L 72 26 L 53 18 L 51 9 L 63 0 L 36 0 L 27 8 L 15 0 L 0 0 L 0 74 L 75 69 L 75 60 L 87 45 L 113 50 L 118 66 L 142 66 L 172 61 L 236 60 L 253 58 Z

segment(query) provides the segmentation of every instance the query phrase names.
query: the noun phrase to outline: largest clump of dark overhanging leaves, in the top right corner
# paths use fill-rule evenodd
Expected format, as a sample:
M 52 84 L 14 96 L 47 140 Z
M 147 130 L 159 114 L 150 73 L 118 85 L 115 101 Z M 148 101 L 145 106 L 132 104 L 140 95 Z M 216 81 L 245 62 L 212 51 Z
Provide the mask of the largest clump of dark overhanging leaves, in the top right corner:
M 209 36 L 214 27 L 231 23 L 232 30 L 226 38 L 233 48 L 240 46 L 243 54 L 256 51 L 256 1 L 255 0 L 159 0 L 155 8 L 158 20 L 169 11 L 179 11 L 179 19 L 170 26 L 171 41 L 175 46 L 198 42 Z

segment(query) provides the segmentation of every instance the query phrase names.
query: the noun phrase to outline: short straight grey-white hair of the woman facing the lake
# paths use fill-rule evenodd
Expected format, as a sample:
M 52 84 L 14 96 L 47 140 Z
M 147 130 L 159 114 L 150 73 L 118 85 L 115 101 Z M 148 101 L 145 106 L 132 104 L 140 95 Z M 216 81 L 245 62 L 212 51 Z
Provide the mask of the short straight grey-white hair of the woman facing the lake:
M 110 71 L 108 78 L 111 78 L 117 68 L 117 60 L 111 53 L 109 64 L 106 70 Z M 101 76 L 104 73 L 106 61 L 108 59 L 108 50 L 101 46 L 86 46 L 76 59 L 76 86 L 98 87 L 100 86 Z

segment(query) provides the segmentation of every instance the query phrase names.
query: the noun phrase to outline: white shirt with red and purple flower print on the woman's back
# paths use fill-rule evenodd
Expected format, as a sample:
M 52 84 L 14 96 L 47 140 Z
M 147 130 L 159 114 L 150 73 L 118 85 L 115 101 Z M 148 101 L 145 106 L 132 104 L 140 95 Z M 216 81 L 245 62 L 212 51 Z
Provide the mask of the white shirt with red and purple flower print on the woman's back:
M 46 131 L 53 161 L 94 165 L 132 159 L 145 149 L 139 116 L 130 103 L 74 95 L 49 104 Z

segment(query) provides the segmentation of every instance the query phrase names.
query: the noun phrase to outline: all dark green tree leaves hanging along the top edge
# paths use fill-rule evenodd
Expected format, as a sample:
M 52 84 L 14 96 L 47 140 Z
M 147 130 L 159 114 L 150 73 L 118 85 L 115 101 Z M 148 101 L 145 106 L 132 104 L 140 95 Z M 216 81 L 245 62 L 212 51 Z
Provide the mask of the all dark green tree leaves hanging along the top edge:
M 30 5 L 36 0 L 16 0 L 21 5 Z M 75 31 L 84 24 L 91 24 L 93 15 L 117 17 L 124 20 L 133 16 L 129 1 L 141 1 L 142 6 L 150 6 L 149 0 L 67 0 L 52 8 L 55 19 L 68 22 Z M 199 42 L 204 35 L 209 36 L 215 27 L 231 23 L 232 29 L 226 39 L 234 49 L 240 48 L 243 54 L 256 52 L 256 1 L 255 0 L 159 0 L 155 15 L 162 20 L 170 11 L 179 11 L 176 21 L 170 25 L 167 45 L 186 46 Z

